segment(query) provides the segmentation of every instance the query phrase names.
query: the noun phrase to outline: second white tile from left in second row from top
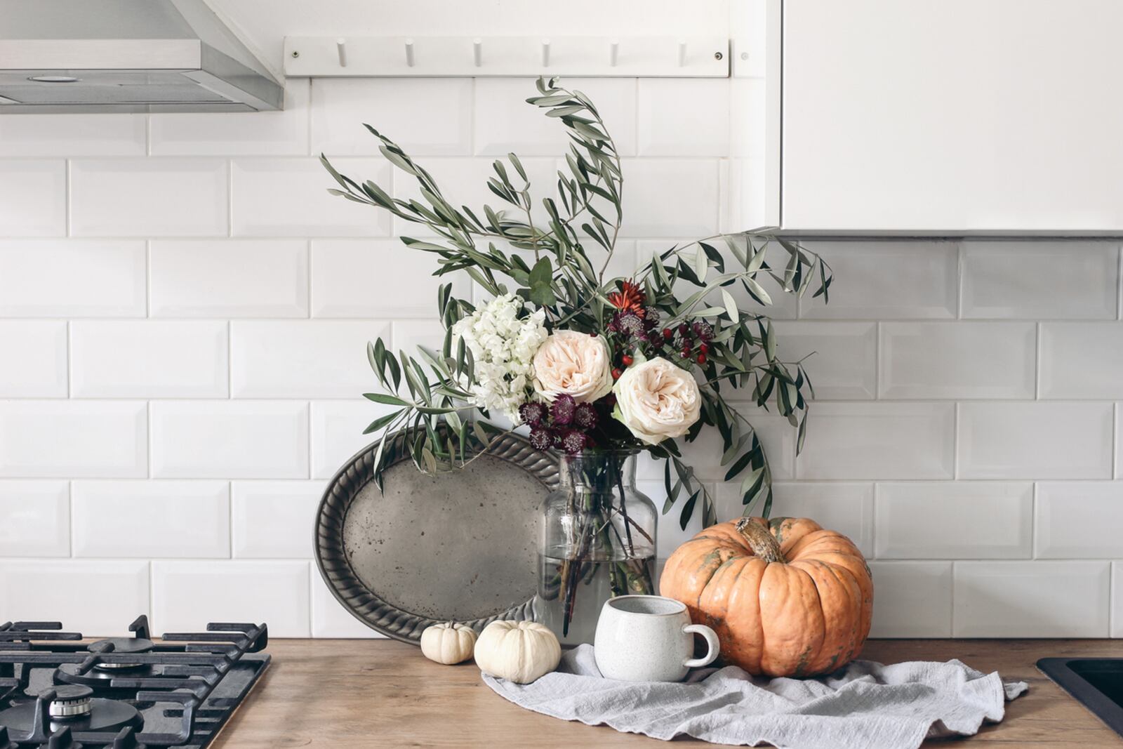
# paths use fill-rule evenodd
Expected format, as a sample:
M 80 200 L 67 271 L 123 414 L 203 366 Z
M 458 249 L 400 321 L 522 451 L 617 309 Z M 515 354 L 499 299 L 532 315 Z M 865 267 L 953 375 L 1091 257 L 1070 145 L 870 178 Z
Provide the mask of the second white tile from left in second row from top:
M 227 163 L 219 158 L 71 162 L 70 231 L 76 237 L 227 234 Z

